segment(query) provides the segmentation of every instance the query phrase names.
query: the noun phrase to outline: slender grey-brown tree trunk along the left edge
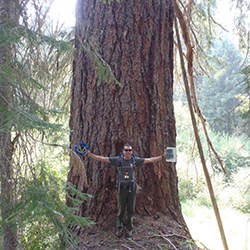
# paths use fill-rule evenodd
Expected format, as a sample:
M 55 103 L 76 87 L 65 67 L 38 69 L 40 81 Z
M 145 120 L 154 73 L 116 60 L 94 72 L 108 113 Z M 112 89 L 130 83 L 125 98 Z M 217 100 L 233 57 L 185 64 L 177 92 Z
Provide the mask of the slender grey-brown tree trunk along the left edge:
M 8 34 L 8 25 L 18 20 L 18 1 L 0 0 L 1 32 Z M 14 203 L 13 199 L 13 168 L 11 143 L 11 120 L 8 118 L 12 104 L 12 88 L 7 77 L 11 69 L 12 50 L 10 46 L 0 47 L 0 182 L 1 182 L 1 216 L 3 220 L 3 249 L 17 248 L 15 225 L 8 222 Z

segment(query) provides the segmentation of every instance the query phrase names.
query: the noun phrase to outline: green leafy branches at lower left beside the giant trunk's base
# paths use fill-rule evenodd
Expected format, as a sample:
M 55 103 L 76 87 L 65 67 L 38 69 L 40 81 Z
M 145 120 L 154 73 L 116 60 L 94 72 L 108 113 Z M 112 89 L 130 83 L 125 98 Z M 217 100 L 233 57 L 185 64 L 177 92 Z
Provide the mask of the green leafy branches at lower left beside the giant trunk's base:
M 64 187 L 58 174 L 43 162 L 39 166 L 36 178 L 27 180 L 24 189 L 20 190 L 18 203 L 8 222 L 18 225 L 24 249 L 77 249 L 80 239 L 70 228 L 93 224 L 76 215 L 80 204 L 90 196 L 77 191 L 70 183 Z M 68 192 L 74 193 L 72 207 L 65 203 Z

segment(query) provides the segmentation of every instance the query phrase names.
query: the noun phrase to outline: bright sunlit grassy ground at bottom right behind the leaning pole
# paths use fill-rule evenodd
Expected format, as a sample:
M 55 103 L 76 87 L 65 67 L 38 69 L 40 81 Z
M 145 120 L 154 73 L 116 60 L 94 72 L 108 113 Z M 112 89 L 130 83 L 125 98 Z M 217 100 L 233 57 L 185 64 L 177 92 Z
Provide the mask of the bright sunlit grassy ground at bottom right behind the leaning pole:
M 220 205 L 220 215 L 230 250 L 250 250 L 250 215 Z M 223 250 L 212 207 L 198 206 L 192 201 L 182 203 L 182 212 L 192 238 L 210 250 Z

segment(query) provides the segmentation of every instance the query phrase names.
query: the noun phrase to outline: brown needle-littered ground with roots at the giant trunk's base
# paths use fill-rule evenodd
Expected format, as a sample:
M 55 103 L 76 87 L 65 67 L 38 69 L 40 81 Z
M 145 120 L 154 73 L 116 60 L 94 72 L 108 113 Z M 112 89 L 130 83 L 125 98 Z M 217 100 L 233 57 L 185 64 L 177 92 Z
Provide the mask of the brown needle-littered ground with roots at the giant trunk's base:
M 81 250 L 201 250 L 178 223 L 170 223 L 164 215 L 135 218 L 133 237 L 126 239 L 115 235 L 110 229 L 92 227 L 82 233 Z

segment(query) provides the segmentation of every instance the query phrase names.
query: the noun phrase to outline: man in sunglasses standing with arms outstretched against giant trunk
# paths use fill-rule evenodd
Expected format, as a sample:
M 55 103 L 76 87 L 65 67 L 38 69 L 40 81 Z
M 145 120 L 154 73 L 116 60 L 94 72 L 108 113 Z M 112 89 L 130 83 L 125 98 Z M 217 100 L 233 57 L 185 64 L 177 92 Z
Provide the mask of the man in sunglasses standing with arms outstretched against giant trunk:
M 135 210 L 135 199 L 137 184 L 135 178 L 135 167 L 140 167 L 143 164 L 155 163 L 166 159 L 166 152 L 163 155 L 150 157 L 150 158 L 140 158 L 135 157 L 132 153 L 132 147 L 129 144 L 123 146 L 123 152 L 121 156 L 116 157 L 105 157 L 91 153 L 88 151 L 87 155 L 97 161 L 110 163 L 112 166 L 118 168 L 117 177 L 117 203 L 118 203 L 118 213 L 117 213 L 117 228 L 116 235 L 121 237 L 124 232 L 124 213 L 127 208 L 127 224 L 126 224 L 126 237 L 132 237 L 133 229 L 133 216 Z

